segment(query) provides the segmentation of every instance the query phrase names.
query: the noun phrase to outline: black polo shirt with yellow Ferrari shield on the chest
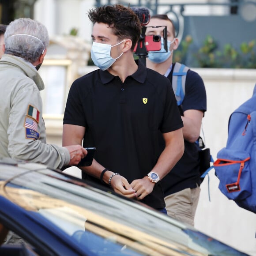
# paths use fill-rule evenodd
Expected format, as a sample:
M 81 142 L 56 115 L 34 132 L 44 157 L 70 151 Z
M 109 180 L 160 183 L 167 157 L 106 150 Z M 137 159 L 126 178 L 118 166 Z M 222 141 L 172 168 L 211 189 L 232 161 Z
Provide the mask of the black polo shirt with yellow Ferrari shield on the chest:
M 95 160 L 131 183 L 151 171 L 159 156 L 158 131 L 183 127 L 169 80 L 137 61 L 124 83 L 100 69 L 76 79 L 68 94 L 64 124 L 84 126 L 83 147 L 96 147 Z M 82 173 L 85 179 L 100 182 Z M 156 184 L 143 203 L 165 207 Z

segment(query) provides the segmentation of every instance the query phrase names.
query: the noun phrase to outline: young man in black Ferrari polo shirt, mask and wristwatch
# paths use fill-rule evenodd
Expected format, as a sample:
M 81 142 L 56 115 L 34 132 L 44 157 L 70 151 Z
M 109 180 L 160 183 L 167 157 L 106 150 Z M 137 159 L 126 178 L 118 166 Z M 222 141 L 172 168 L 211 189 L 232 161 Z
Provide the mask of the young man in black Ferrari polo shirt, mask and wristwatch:
M 96 147 L 82 178 L 165 210 L 158 183 L 184 151 L 183 123 L 171 84 L 133 58 L 141 25 L 122 5 L 89 11 L 91 56 L 100 69 L 75 80 L 64 113 L 63 145 Z M 158 155 L 158 131 L 166 142 Z

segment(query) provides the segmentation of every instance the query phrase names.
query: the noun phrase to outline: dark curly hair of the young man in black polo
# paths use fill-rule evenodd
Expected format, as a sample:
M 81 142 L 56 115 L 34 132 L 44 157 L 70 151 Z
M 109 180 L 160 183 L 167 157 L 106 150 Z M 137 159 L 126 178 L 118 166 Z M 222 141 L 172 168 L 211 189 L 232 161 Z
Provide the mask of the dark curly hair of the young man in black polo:
M 104 5 L 88 11 L 88 17 L 93 24 L 108 24 L 120 40 L 131 39 L 131 49 L 134 49 L 141 34 L 141 24 L 138 16 L 131 8 L 126 8 L 121 4 Z

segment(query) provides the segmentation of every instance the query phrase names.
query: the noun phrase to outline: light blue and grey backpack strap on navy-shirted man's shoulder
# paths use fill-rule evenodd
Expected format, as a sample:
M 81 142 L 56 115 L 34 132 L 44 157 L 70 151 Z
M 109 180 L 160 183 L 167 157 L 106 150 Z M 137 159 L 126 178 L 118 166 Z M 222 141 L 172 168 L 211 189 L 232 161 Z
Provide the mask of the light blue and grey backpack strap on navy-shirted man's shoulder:
M 175 93 L 177 105 L 181 105 L 185 96 L 186 75 L 189 68 L 184 64 L 176 62 L 173 68 L 173 91 Z

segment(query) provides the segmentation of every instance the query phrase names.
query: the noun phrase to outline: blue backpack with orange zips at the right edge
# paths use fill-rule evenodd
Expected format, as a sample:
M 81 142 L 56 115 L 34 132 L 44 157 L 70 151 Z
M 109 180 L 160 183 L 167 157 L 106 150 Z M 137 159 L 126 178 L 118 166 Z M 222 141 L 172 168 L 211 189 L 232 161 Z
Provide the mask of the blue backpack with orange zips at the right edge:
M 256 213 L 256 94 L 231 114 L 226 147 L 218 151 L 214 168 L 220 191 Z

